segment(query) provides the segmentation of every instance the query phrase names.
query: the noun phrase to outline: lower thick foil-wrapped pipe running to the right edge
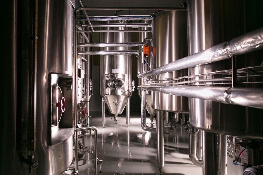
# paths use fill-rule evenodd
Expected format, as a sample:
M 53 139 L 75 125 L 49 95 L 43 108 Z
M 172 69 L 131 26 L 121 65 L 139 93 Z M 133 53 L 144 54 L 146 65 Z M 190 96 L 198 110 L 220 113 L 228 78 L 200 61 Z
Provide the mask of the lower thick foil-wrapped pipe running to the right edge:
M 263 109 L 262 88 L 232 88 L 212 86 L 142 86 L 142 90 L 162 92 L 225 104 L 236 104 Z

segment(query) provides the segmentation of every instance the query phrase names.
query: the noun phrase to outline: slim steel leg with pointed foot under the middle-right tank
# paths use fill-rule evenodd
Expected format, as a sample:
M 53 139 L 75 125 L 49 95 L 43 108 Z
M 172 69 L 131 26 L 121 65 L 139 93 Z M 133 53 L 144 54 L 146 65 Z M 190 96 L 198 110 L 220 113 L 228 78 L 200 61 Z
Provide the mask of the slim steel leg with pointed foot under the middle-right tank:
M 160 174 L 164 167 L 164 112 L 157 111 L 156 113 L 156 136 L 157 136 L 157 166 L 159 167 Z

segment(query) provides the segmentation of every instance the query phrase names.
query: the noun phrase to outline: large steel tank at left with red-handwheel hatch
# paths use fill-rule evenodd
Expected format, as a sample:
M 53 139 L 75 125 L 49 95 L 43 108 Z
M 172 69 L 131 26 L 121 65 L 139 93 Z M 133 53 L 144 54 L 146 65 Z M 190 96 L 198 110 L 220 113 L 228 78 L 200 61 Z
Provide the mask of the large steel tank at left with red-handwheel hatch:
M 7 4 L 4 22 L 10 55 L 3 66 L 9 76 L 3 90 L 1 174 L 58 175 L 73 157 L 73 96 L 67 86 L 72 81 L 72 4 L 69 0 Z M 54 135 L 52 83 L 60 86 L 66 104 Z

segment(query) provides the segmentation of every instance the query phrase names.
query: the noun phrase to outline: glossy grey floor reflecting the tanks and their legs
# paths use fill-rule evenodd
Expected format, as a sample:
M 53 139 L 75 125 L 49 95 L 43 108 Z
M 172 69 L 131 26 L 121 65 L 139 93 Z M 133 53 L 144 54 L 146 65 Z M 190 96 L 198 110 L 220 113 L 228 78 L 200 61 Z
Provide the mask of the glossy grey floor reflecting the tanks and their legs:
M 156 134 L 141 129 L 139 112 L 131 112 L 130 127 L 125 115 L 118 115 L 117 125 L 113 115 L 106 115 L 102 128 L 101 113 L 92 113 L 91 126 L 98 130 L 98 158 L 103 160 L 102 175 L 155 175 L 160 174 L 156 165 Z M 155 125 L 155 120 L 153 125 Z M 147 125 L 150 125 L 148 117 Z M 168 125 L 169 126 L 169 125 Z M 165 128 L 168 132 L 169 127 Z M 188 156 L 188 132 L 176 124 L 171 134 L 165 134 L 165 166 L 163 174 L 201 175 L 202 168 L 193 165 Z M 89 135 L 85 137 L 89 148 Z M 93 155 L 85 153 L 79 161 L 79 175 L 93 174 Z M 74 164 L 70 168 L 74 168 Z M 100 166 L 98 165 L 98 171 Z M 63 175 L 70 175 L 65 171 Z M 100 173 L 98 173 L 100 174 Z M 228 173 L 229 174 L 229 173 Z M 235 173 L 236 174 L 236 173 Z

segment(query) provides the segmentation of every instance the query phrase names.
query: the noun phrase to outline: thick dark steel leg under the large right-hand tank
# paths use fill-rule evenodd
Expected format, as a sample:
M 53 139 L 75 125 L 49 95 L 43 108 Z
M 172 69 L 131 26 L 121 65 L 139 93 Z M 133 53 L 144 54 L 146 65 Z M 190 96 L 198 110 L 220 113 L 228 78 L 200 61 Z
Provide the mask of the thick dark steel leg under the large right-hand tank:
M 217 174 L 217 134 L 203 131 L 203 175 Z

